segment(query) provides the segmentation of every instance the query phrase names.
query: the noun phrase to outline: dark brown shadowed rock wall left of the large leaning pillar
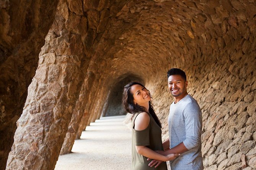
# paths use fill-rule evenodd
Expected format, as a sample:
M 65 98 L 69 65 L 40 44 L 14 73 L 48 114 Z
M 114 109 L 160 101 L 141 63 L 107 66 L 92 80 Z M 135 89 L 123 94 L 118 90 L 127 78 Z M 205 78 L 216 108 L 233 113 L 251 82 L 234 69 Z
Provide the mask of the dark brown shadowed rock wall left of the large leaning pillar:
M 0 170 L 5 169 L 16 121 L 22 113 L 57 3 L 0 2 Z

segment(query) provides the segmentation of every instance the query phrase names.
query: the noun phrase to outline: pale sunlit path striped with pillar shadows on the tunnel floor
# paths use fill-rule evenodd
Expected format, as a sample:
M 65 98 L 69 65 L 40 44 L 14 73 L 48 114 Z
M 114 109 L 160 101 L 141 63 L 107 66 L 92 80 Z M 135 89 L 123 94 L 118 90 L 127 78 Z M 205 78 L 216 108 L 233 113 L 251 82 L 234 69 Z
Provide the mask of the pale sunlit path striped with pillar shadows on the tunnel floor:
M 75 140 L 72 153 L 59 156 L 55 170 L 130 170 L 131 131 L 125 116 L 101 117 Z

